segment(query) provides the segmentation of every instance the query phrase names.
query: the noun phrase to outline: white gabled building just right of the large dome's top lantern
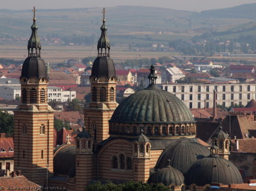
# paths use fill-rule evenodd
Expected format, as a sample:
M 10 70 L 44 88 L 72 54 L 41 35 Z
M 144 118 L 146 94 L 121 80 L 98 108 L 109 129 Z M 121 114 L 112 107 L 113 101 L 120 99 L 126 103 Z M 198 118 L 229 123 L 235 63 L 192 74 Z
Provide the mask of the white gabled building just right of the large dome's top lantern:
M 161 75 L 162 83 L 175 82 L 176 80 L 185 77 L 185 74 L 180 70 L 180 68 L 172 67 L 166 68 Z

